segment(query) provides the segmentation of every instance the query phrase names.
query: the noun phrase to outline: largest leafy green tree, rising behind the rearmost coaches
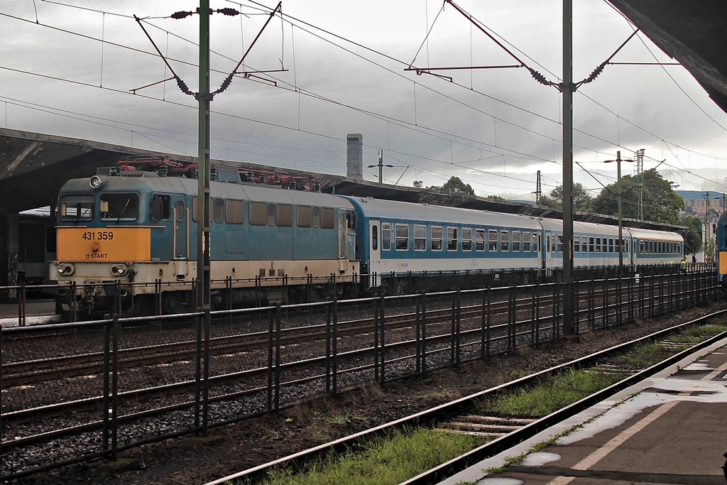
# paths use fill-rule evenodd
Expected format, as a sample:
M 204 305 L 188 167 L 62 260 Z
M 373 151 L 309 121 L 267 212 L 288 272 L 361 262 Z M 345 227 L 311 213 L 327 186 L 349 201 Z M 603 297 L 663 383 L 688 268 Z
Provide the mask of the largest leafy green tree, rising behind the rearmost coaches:
M 669 180 L 650 169 L 643 172 L 643 184 L 636 177 L 626 175 L 620 183 L 608 185 L 593 200 L 593 212 L 618 215 L 619 191 L 622 200 L 622 216 L 638 219 L 638 196 L 642 194 L 643 218 L 653 223 L 677 224 L 679 211 L 684 209 L 684 199 L 672 190 Z

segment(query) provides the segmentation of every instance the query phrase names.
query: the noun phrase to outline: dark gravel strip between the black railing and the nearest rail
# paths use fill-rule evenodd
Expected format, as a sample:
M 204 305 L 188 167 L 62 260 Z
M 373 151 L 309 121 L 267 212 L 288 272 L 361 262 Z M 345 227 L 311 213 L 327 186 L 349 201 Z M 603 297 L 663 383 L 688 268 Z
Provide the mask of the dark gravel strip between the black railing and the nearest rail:
M 373 384 L 361 386 L 337 399 L 319 398 L 277 416 L 214 428 L 205 437 L 189 436 L 122 452 L 117 462 L 72 465 L 16 483 L 204 484 L 720 308 L 727 308 L 727 302 L 587 332 L 575 341 L 521 348 L 513 354 L 470 362 L 460 369 L 397 382 L 385 389 Z

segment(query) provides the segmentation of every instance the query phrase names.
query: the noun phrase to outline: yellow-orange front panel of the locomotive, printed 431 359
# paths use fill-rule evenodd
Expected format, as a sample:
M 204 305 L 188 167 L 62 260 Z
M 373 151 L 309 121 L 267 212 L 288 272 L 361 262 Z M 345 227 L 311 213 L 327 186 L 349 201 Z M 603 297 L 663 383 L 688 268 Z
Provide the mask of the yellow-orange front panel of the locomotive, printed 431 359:
M 59 261 L 150 261 L 150 228 L 58 228 Z

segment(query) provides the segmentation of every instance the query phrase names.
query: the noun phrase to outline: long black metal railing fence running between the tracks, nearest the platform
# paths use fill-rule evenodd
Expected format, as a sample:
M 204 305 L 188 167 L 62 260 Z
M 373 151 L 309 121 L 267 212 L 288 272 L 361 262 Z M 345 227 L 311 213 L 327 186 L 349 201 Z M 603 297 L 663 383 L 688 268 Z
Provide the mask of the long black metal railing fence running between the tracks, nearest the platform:
M 694 269 L 577 281 L 577 332 L 721 297 Z M 0 479 L 553 342 L 562 308 L 562 285 L 536 282 L 6 328 Z

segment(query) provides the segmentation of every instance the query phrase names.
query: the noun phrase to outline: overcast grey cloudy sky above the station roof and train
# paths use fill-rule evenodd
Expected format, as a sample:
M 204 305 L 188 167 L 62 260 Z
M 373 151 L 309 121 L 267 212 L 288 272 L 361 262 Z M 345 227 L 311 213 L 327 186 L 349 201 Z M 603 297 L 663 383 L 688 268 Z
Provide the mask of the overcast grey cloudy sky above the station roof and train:
M 549 81 L 562 75 L 562 2 L 456 2 Z M 574 79 L 633 32 L 603 0 L 574 2 Z M 0 0 L 0 127 L 196 155 L 196 101 L 182 94 L 133 15 L 192 91 L 198 84 L 193 1 Z M 276 4 L 212 0 L 212 89 L 241 59 Z M 442 185 L 457 175 L 481 196 L 531 199 L 561 183 L 561 95 L 441 0 L 288 0 L 212 102 L 212 157 L 345 175 L 345 136 L 364 136 L 364 164 L 384 178 Z M 427 36 L 427 32 L 429 32 Z M 614 62 L 671 63 L 643 33 Z M 158 84 L 155 84 L 158 83 Z M 154 84 L 151 87 L 142 87 Z M 134 94 L 134 89 L 136 89 Z M 598 193 L 615 164 L 645 149 L 683 190 L 723 191 L 727 115 L 678 65 L 608 65 L 574 96 L 574 180 Z M 406 167 L 409 167 L 406 169 Z M 587 172 L 586 172 L 587 170 Z M 588 173 L 590 172 L 590 174 Z M 622 172 L 632 172 L 624 164 Z M 403 174 L 403 175 L 402 175 Z M 375 180 L 377 169 L 365 169 Z

